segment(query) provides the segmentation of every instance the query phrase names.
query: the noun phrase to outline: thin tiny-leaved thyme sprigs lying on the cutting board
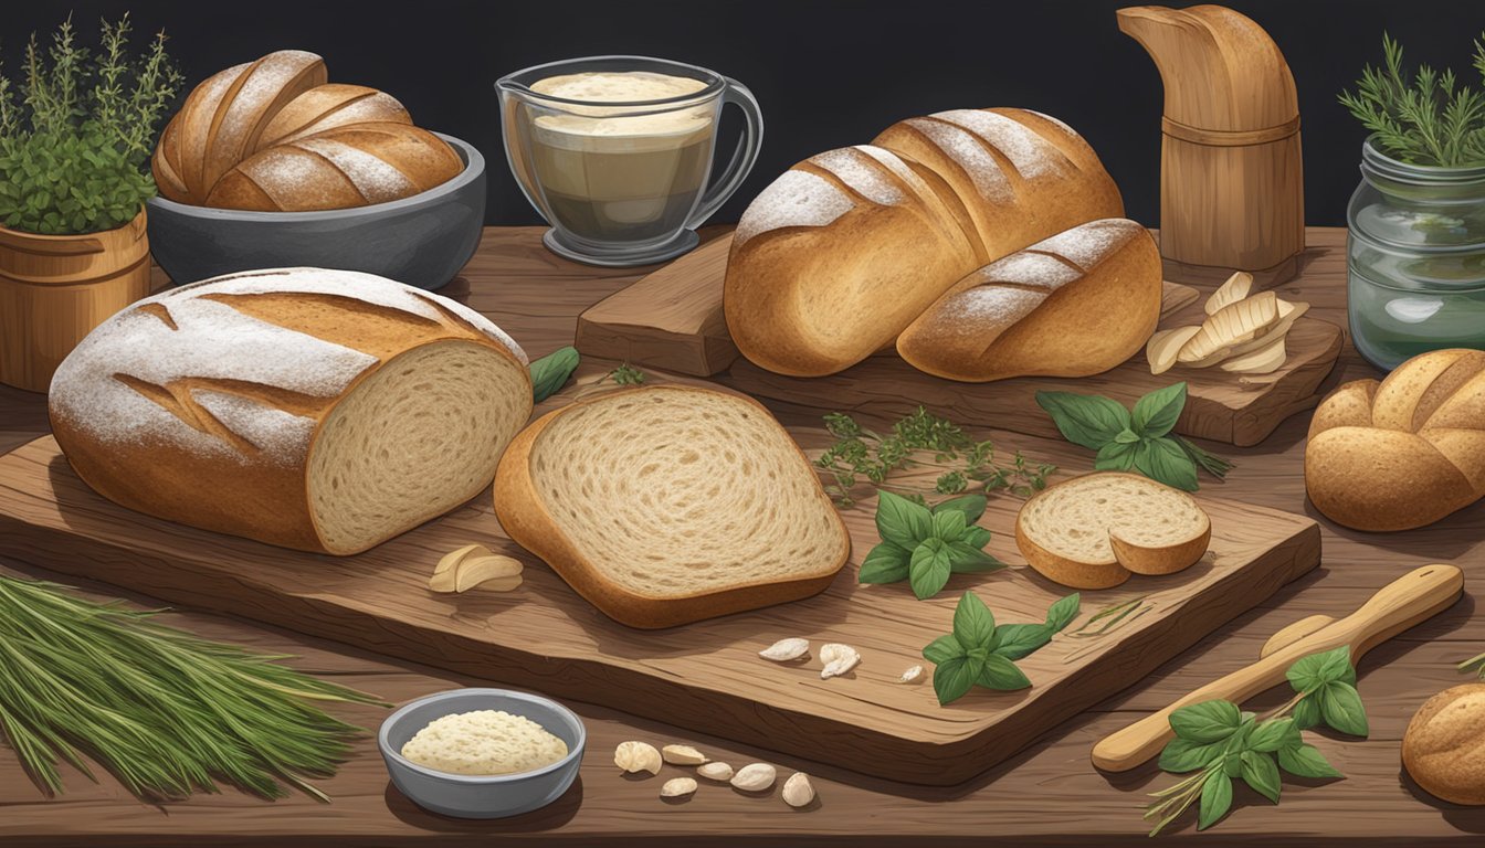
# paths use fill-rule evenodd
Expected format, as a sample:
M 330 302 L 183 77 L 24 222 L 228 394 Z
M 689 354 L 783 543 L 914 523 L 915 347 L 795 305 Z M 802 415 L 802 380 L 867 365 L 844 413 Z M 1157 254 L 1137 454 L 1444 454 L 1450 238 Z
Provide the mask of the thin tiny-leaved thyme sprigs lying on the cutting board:
M 909 468 L 939 471 L 933 490 L 897 487 L 909 500 L 919 503 L 925 502 L 925 495 L 958 495 L 971 487 L 985 492 L 1005 489 L 1028 498 L 1045 489 L 1047 477 L 1057 469 L 1054 465 L 1032 465 L 1020 453 L 1016 453 L 1010 465 L 996 465 L 993 444 L 974 441 L 956 425 L 930 414 L 924 407 L 892 425 L 888 435 L 863 428 L 854 417 L 842 413 L 827 414 L 824 420 L 836 443 L 820 454 L 815 466 L 833 478 L 826 492 L 841 506 L 854 503 L 851 490 L 863 478 L 881 487 L 891 472 Z

